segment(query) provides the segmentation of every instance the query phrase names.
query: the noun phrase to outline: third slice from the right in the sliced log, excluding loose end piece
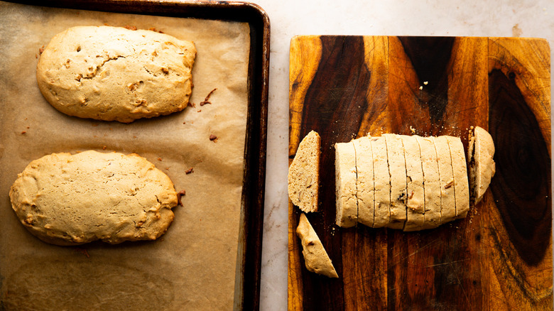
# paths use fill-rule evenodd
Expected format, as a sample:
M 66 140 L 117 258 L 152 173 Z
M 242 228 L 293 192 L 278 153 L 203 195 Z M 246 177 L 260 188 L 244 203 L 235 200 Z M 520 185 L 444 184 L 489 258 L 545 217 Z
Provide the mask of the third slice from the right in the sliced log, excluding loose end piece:
M 440 225 L 440 177 L 437 152 L 433 138 L 415 136 L 421 152 L 423 166 L 423 187 L 425 188 L 425 214 L 422 229 L 432 229 Z

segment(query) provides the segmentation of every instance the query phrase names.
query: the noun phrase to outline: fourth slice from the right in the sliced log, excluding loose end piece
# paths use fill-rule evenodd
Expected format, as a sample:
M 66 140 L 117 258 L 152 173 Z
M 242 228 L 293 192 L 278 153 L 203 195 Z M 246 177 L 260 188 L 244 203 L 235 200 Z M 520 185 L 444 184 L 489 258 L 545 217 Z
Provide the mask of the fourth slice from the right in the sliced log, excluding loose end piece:
M 401 135 L 406 159 L 406 222 L 404 231 L 417 231 L 423 227 L 425 213 L 425 192 L 423 187 L 423 166 L 419 144 L 414 136 Z

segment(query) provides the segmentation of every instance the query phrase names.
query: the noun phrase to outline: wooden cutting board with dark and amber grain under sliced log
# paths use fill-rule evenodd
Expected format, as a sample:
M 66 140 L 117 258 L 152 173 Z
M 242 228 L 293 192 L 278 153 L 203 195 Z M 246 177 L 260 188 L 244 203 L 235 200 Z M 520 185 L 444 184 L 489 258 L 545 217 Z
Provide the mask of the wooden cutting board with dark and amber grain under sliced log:
M 371 133 L 496 145 L 484 200 L 437 229 L 335 225 L 335 148 Z M 320 212 L 338 279 L 306 270 L 289 203 L 289 310 L 552 310 L 550 48 L 531 38 L 299 36 L 290 43 L 290 144 L 322 138 Z

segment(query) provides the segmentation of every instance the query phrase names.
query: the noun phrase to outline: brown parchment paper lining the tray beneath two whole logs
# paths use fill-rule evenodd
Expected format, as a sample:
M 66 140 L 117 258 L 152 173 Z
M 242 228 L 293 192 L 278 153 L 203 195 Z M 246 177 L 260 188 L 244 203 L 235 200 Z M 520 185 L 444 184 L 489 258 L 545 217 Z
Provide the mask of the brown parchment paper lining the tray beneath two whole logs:
M 131 124 L 78 119 L 51 107 L 36 83 L 39 48 L 70 26 L 103 24 L 153 27 L 195 42 L 196 107 Z M 248 55 L 247 23 L 0 2 L 0 309 L 234 307 Z M 212 104 L 200 107 L 215 88 Z M 8 195 L 16 175 L 43 155 L 88 149 L 139 153 L 186 191 L 161 239 L 53 246 L 19 223 Z M 189 168 L 194 173 L 186 174 Z

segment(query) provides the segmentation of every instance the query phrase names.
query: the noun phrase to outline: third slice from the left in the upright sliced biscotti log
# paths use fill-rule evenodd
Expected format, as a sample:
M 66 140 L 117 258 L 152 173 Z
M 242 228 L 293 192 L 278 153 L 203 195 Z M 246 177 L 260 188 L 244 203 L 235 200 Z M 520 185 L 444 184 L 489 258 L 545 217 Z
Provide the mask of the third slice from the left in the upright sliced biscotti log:
M 384 136 L 371 137 L 375 178 L 374 228 L 387 227 L 391 222 L 391 175 Z

